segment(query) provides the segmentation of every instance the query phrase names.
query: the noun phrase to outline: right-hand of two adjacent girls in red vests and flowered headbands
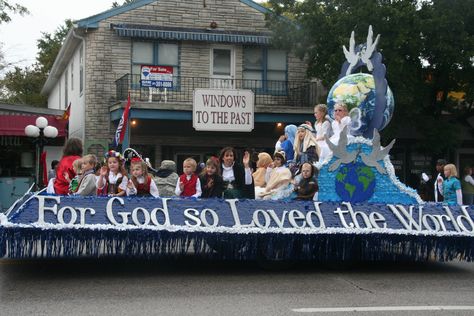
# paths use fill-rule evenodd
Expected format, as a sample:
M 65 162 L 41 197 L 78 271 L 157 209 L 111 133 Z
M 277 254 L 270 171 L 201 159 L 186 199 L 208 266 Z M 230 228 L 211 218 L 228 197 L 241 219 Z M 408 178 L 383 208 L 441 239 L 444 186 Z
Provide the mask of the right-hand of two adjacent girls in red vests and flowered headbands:
M 130 161 L 130 179 L 127 183 L 127 196 L 160 197 L 155 181 L 148 174 L 147 164 L 139 157 Z

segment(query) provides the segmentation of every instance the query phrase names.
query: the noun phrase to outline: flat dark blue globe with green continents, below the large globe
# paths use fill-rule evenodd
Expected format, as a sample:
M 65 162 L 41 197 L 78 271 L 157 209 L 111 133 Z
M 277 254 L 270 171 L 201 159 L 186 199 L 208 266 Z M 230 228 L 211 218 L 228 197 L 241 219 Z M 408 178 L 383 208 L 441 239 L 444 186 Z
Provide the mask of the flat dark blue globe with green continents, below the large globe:
M 336 174 L 336 193 L 346 202 L 364 202 L 372 197 L 375 175 L 360 162 L 341 165 Z

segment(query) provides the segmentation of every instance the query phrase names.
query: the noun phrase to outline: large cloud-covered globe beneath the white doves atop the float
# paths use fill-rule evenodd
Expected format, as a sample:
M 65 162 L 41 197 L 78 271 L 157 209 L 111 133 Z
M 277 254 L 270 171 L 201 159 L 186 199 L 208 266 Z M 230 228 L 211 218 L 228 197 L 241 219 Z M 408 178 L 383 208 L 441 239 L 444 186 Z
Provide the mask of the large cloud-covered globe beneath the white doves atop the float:
M 393 93 L 388 86 L 385 96 L 387 104 L 382 127 L 379 130 L 388 125 L 395 109 Z M 354 121 L 351 134 L 360 136 L 367 131 L 369 123 L 373 118 L 375 97 L 375 82 L 371 74 L 357 73 L 347 75 L 339 79 L 329 91 L 327 99 L 329 115 L 334 119 L 334 105 L 338 102 L 346 104 L 349 111 L 358 108 L 360 115 L 357 114 L 358 111 L 350 112 L 351 119 Z M 359 122 L 355 122 L 356 120 Z

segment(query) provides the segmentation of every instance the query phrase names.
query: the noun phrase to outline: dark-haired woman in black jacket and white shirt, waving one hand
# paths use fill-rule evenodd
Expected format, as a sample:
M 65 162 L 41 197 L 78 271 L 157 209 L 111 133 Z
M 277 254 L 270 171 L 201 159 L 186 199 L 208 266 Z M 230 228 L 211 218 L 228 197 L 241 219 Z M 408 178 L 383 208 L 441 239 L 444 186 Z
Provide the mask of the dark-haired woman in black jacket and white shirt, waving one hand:
M 224 180 L 224 198 L 255 198 L 255 189 L 250 169 L 250 153 L 245 151 L 243 166 L 235 161 L 237 153 L 232 147 L 225 147 L 219 155 L 221 176 Z

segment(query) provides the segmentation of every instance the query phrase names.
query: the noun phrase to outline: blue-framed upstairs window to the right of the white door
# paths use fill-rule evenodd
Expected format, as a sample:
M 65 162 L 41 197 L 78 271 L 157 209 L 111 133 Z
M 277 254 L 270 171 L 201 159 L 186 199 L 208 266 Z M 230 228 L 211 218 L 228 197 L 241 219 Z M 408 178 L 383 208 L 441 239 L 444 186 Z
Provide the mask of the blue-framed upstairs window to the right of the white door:
M 288 63 L 285 51 L 244 47 L 244 87 L 261 93 L 287 93 Z

